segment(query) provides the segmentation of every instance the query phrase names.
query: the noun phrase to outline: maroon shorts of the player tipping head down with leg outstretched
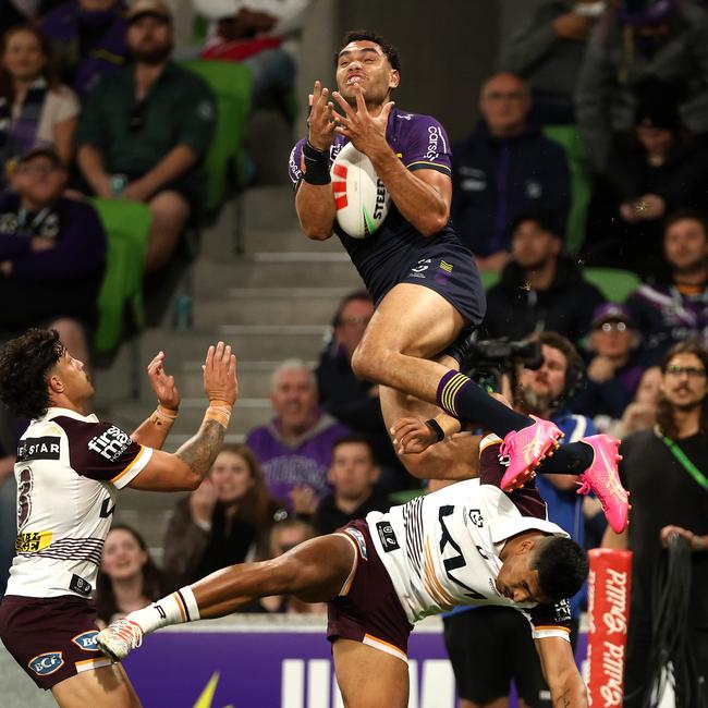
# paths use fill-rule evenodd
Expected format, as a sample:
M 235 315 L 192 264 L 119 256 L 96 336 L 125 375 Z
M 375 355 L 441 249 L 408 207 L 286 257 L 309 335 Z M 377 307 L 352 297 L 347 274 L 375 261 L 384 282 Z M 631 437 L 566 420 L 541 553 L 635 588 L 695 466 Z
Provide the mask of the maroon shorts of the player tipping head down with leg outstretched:
M 327 638 L 352 639 L 407 661 L 413 625 L 405 617 L 369 528 L 357 520 L 337 532 L 356 550 L 356 561 L 338 598 L 327 603 Z

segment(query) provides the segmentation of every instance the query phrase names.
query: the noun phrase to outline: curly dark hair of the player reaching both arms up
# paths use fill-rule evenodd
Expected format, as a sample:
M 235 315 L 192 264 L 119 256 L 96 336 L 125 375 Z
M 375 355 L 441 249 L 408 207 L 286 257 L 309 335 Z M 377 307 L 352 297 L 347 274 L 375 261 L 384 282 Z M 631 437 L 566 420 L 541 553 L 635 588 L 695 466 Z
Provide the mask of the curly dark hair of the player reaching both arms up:
M 0 399 L 14 415 L 39 418 L 50 406 L 47 374 L 64 353 L 56 329 L 29 329 L 0 352 Z

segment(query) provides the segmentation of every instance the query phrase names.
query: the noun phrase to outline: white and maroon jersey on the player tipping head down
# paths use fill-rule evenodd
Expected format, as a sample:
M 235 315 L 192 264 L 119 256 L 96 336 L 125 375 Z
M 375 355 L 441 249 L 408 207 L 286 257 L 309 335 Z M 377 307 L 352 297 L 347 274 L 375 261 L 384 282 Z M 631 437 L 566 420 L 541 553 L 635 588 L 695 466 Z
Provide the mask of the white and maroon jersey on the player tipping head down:
M 408 622 L 464 605 L 521 610 L 534 638 L 570 635 L 570 606 L 518 603 L 496 585 L 500 553 L 517 534 L 540 530 L 567 536 L 548 521 L 535 488 L 511 495 L 499 487 L 503 469 L 496 436 L 483 440 L 479 478 L 459 481 L 387 513 L 366 516 L 374 547 L 391 577 Z

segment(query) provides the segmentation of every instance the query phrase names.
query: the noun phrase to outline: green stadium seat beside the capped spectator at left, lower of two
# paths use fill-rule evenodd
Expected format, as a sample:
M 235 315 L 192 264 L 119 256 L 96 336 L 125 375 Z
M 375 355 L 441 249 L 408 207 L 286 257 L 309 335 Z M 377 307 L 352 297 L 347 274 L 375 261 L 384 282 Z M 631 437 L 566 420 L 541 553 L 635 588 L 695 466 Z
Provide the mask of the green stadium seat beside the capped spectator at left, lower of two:
M 138 328 L 144 324 L 143 266 L 152 215 L 141 202 L 96 197 L 90 203 L 108 241 L 94 346 L 98 352 L 111 352 L 121 341 L 125 305 L 130 305 L 134 324 Z

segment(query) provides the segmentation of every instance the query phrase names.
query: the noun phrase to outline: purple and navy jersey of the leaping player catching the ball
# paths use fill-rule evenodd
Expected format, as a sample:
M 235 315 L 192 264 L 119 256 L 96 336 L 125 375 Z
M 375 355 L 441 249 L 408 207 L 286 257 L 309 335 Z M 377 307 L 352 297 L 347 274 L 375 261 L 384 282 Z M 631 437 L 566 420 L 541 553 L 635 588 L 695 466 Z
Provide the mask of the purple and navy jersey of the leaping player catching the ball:
M 403 164 L 411 171 L 437 170 L 451 174 L 450 143 L 444 129 L 430 115 L 418 115 L 393 109 L 389 115 L 386 139 Z M 330 168 L 349 139 L 335 135 L 330 147 Z M 302 150 L 305 138 L 290 154 L 290 178 L 297 185 L 303 176 Z M 391 209 L 376 233 L 369 239 L 352 239 L 334 221 L 334 233 L 346 248 L 375 303 L 403 281 L 416 263 L 428 256 L 435 259 L 434 249 L 440 244 L 451 244 L 466 251 L 460 243 L 450 222 L 439 233 L 425 237 L 395 208 Z M 472 260 L 472 254 L 469 259 Z

